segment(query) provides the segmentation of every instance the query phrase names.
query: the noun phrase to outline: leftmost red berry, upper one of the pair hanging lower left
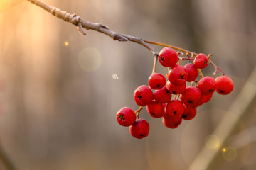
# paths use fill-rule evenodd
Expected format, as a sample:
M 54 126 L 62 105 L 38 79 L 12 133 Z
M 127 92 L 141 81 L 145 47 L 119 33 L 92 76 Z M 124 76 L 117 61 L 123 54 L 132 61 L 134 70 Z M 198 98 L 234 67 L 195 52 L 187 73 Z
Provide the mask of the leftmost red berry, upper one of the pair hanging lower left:
M 124 107 L 117 111 L 117 122 L 122 126 L 133 125 L 136 120 L 136 115 L 132 108 Z

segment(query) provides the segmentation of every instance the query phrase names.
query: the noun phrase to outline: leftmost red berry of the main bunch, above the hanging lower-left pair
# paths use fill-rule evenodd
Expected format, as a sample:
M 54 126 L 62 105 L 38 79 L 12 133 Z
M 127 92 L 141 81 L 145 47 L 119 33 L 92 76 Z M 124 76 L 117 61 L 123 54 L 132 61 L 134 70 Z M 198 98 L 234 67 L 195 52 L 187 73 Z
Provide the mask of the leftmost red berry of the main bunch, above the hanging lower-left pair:
M 153 100 L 153 92 L 149 88 L 149 86 L 142 85 L 137 87 L 134 91 L 134 101 L 139 106 L 146 106 Z

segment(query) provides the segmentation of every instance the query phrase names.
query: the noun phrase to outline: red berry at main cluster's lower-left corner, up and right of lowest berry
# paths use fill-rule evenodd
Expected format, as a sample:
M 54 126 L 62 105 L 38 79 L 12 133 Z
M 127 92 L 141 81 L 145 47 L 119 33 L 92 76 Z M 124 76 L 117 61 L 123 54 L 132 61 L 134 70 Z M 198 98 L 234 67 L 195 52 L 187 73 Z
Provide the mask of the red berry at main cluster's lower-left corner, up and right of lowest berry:
M 153 100 L 150 104 L 146 106 L 146 111 L 153 118 L 161 118 L 164 112 L 164 105 L 162 103 L 157 103 Z

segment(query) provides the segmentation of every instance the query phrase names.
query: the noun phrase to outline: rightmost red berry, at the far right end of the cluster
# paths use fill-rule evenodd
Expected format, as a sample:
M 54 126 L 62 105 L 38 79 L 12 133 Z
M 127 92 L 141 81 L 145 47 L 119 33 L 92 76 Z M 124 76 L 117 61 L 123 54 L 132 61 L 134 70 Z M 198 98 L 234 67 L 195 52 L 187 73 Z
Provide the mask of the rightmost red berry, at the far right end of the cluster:
M 219 94 L 223 94 L 223 95 L 230 94 L 230 92 L 233 91 L 234 84 L 229 77 L 227 76 L 216 77 L 215 81 L 217 83 L 216 91 Z

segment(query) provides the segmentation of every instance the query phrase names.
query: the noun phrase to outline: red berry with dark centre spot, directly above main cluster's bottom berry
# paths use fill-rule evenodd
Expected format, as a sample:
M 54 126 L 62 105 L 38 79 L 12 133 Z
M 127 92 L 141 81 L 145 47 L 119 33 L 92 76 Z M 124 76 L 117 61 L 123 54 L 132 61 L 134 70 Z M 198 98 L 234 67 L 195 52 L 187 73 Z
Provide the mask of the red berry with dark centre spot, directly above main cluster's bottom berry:
M 183 115 L 185 107 L 181 101 L 172 100 L 166 106 L 166 111 L 163 116 L 166 120 L 169 121 L 177 121 L 181 119 Z

